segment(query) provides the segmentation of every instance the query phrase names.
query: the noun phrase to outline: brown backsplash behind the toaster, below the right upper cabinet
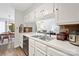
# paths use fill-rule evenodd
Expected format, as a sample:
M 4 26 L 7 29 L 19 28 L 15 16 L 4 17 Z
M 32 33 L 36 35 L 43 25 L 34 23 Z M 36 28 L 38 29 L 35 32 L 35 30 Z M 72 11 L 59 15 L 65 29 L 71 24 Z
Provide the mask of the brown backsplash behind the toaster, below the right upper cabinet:
M 60 32 L 70 32 L 73 30 L 79 30 L 79 24 L 72 24 L 72 25 L 60 25 Z

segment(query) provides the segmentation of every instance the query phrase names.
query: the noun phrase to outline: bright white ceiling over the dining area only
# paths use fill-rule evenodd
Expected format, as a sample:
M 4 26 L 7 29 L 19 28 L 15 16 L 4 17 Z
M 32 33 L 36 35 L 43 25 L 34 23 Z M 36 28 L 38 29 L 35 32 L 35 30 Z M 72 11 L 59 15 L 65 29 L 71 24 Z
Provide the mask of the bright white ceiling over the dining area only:
M 15 20 L 15 9 L 9 4 L 0 4 L 0 18 Z

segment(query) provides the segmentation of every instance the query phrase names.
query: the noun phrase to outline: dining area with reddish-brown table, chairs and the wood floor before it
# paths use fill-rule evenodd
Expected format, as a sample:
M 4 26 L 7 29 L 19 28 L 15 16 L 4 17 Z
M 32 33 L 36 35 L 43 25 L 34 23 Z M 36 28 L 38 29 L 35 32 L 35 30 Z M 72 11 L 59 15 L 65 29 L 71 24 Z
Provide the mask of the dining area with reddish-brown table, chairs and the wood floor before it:
M 0 33 L 0 56 L 18 56 L 25 55 L 21 48 L 14 48 L 14 32 Z M 19 52 L 20 51 L 20 52 Z

